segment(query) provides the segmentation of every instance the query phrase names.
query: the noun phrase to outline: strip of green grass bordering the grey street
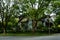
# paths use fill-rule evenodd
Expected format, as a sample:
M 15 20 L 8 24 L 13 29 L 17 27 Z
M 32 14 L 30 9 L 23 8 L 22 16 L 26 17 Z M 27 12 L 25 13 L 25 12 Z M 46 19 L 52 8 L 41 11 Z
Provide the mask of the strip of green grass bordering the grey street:
M 1 33 L 0 36 L 47 36 L 47 33 Z

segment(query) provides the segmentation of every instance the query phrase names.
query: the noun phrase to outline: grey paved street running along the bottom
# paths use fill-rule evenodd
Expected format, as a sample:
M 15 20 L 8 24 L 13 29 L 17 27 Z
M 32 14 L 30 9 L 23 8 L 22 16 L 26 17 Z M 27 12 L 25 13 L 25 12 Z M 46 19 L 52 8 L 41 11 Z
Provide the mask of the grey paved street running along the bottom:
M 60 36 L 0 36 L 0 40 L 60 40 Z

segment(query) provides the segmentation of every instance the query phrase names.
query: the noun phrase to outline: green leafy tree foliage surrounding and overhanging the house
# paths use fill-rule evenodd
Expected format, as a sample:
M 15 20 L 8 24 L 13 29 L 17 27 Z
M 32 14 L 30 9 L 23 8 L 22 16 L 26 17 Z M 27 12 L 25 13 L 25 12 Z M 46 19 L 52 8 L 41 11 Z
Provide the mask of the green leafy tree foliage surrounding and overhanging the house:
M 37 25 L 39 25 L 38 29 L 46 29 L 47 27 L 42 27 L 43 23 L 38 24 L 38 22 L 41 21 L 41 18 L 45 18 L 45 13 L 50 15 L 54 10 L 60 8 L 59 0 L 5 0 L 5 2 L 2 0 L 0 4 L 0 26 L 2 26 L 1 28 L 3 28 L 4 31 L 9 28 L 23 29 L 21 25 L 18 26 L 21 15 L 24 15 L 28 20 L 32 20 L 32 30 L 35 31 L 38 27 Z M 59 22 L 60 12 L 57 12 L 54 23 L 60 25 Z M 25 23 L 24 25 L 28 24 Z

